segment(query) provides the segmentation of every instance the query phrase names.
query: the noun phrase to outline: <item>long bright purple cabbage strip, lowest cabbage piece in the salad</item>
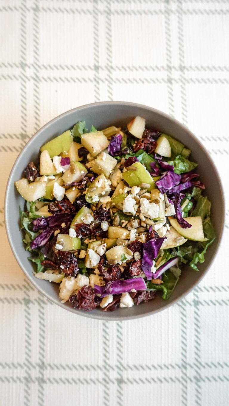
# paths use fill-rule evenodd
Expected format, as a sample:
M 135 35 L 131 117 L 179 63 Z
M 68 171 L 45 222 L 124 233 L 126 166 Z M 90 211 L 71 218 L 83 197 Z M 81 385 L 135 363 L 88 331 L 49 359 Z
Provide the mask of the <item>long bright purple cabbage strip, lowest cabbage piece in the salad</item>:
M 108 282 L 106 286 L 94 286 L 94 292 L 101 294 L 101 297 L 107 295 L 118 295 L 120 293 L 130 292 L 131 289 L 145 290 L 146 283 L 142 277 L 133 279 L 118 279 Z

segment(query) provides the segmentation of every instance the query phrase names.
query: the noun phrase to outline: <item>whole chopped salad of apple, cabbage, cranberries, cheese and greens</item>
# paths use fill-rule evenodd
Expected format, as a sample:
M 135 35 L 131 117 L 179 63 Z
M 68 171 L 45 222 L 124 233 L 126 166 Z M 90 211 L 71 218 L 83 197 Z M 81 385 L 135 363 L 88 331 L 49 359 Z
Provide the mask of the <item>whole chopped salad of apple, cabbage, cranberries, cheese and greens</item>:
M 79 121 L 40 149 L 15 181 L 34 276 L 61 302 L 114 311 L 170 298 L 215 239 L 190 149 L 135 117 L 126 129 Z M 191 270 L 190 270 L 191 271 Z

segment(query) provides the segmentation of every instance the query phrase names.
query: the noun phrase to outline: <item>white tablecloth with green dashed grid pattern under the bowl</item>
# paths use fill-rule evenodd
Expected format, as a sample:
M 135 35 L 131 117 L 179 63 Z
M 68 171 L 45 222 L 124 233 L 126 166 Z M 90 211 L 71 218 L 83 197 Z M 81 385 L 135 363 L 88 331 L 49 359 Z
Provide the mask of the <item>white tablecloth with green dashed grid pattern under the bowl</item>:
M 152 317 L 102 322 L 28 283 L 3 205 L 28 139 L 61 112 L 103 100 L 176 117 L 227 185 L 229 1 L 0 0 L 0 43 L 0 405 L 227 406 L 228 210 L 217 259 L 193 292 Z

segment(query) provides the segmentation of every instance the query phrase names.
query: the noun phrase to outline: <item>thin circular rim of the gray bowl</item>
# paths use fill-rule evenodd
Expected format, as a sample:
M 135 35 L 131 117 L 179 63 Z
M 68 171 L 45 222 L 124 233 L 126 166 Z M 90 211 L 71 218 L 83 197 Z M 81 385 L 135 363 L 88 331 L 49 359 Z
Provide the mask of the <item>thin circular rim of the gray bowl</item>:
M 100 314 L 100 312 L 98 312 L 98 314 L 97 313 L 91 313 L 91 312 L 85 312 L 85 311 L 78 311 L 76 313 L 76 311 L 75 311 L 75 309 L 73 307 L 67 307 L 67 306 L 65 306 L 64 303 L 61 303 L 60 301 L 58 301 L 58 299 L 50 298 L 50 296 L 48 294 L 46 294 L 46 292 L 44 292 L 43 289 L 41 289 L 40 287 L 38 287 L 36 285 L 36 279 L 33 276 L 33 273 L 32 274 L 29 274 L 29 273 L 26 274 L 26 272 L 24 271 L 24 266 L 23 266 L 23 264 L 22 264 L 22 262 L 20 260 L 20 256 L 17 255 L 17 253 L 13 251 L 14 243 L 13 243 L 13 238 L 12 238 L 11 233 L 10 233 L 9 221 L 8 221 L 9 220 L 9 212 L 10 212 L 10 209 L 8 209 L 8 207 L 9 207 L 9 204 L 8 204 L 9 185 L 12 184 L 11 177 L 13 175 L 14 168 L 17 165 L 17 162 L 20 160 L 20 156 L 22 155 L 24 149 L 29 148 L 30 144 L 33 142 L 33 139 L 35 137 L 39 136 L 39 133 L 42 132 L 44 128 L 49 127 L 50 125 L 52 125 L 52 123 L 55 122 L 57 119 L 61 119 L 62 117 L 68 116 L 68 114 L 70 114 L 71 112 L 76 112 L 77 110 L 80 110 L 82 108 L 92 107 L 92 106 L 95 106 L 95 105 L 96 106 L 97 105 L 100 105 L 100 106 L 124 105 L 124 106 L 133 106 L 135 108 L 145 108 L 147 110 L 151 110 L 152 112 L 160 114 L 162 117 L 165 117 L 166 119 L 169 119 L 169 120 L 173 121 L 174 123 L 176 123 L 177 125 L 179 125 L 185 132 L 188 132 L 188 134 L 195 139 L 197 144 L 199 144 L 202 148 L 205 149 L 204 145 L 198 140 L 198 138 L 188 129 L 188 127 L 186 127 L 185 125 L 180 123 L 180 121 L 174 119 L 174 117 L 170 116 L 169 114 L 166 114 L 166 113 L 162 112 L 161 110 L 157 110 L 157 109 L 155 109 L 153 107 L 150 107 L 150 106 L 147 106 L 147 105 L 144 105 L 144 104 L 133 103 L 133 102 L 123 102 L 123 101 L 105 101 L 105 102 L 95 102 L 95 103 L 90 103 L 90 104 L 84 104 L 83 106 L 78 106 L 78 107 L 72 108 L 72 109 L 70 109 L 68 111 L 65 111 L 65 112 L 59 114 L 57 117 L 55 117 L 54 119 L 48 121 L 48 123 L 44 124 L 37 132 L 35 132 L 35 134 L 33 134 L 33 136 L 30 138 L 30 140 L 28 140 L 28 142 L 22 148 L 22 151 L 17 156 L 17 158 L 16 158 L 16 160 L 15 160 L 15 162 L 13 164 L 13 167 L 12 167 L 12 169 L 10 171 L 9 178 L 8 178 L 8 181 L 7 181 L 7 186 L 6 186 L 5 199 L 4 199 L 5 227 L 6 227 L 7 238 L 8 238 L 10 247 L 11 247 L 11 251 L 12 251 L 18 265 L 20 266 L 22 272 L 24 272 L 25 276 L 28 278 L 28 280 L 31 282 L 31 284 L 42 295 L 44 295 L 48 300 L 50 300 L 51 302 L 57 304 L 62 309 L 65 309 L 66 311 L 70 311 L 70 312 L 72 312 L 72 313 L 74 313 L 76 315 L 81 315 L 83 317 L 89 317 L 89 318 L 92 318 L 92 319 L 103 320 L 103 321 L 104 320 L 106 320 L 106 321 L 108 321 L 108 320 L 109 321 L 133 320 L 133 319 L 153 315 L 153 314 L 159 313 L 160 311 L 164 311 L 164 310 L 168 309 L 170 306 L 176 304 L 177 302 L 182 300 L 186 295 L 188 295 L 201 282 L 203 277 L 207 274 L 207 272 L 209 271 L 209 268 L 212 266 L 212 263 L 215 261 L 216 253 L 217 253 L 217 251 L 218 251 L 218 249 L 220 247 L 220 244 L 222 242 L 222 237 L 223 237 L 223 234 L 224 234 L 224 231 L 225 231 L 225 194 L 224 194 L 224 190 L 222 188 L 222 181 L 221 181 L 221 177 L 220 177 L 220 175 L 218 173 L 218 170 L 217 170 L 211 156 L 209 155 L 209 153 L 205 149 L 205 151 L 206 151 L 206 153 L 208 155 L 208 158 L 209 158 L 209 160 L 210 160 L 210 162 L 211 162 L 211 164 L 212 164 L 212 166 L 214 168 L 214 171 L 216 173 L 216 177 L 218 179 L 218 183 L 219 183 L 221 194 L 222 194 L 222 206 L 223 206 L 223 210 L 222 210 L 222 214 L 221 214 L 222 215 L 222 227 L 221 227 L 221 230 L 220 230 L 220 234 L 218 235 L 218 243 L 214 248 L 214 257 L 213 257 L 212 261 L 209 263 L 209 265 L 206 267 L 206 269 L 204 270 L 203 275 L 200 277 L 200 279 L 198 279 L 198 281 L 196 283 L 192 283 L 192 285 L 189 287 L 189 289 L 187 289 L 183 294 L 181 294 L 181 296 L 179 296 L 179 298 L 174 299 L 174 300 L 165 301 L 166 304 L 161 309 L 156 309 L 155 310 L 155 309 L 152 308 L 151 311 L 147 311 L 146 313 L 140 314 L 140 315 L 119 316 L 119 317 L 118 316 L 113 316 L 112 318 L 110 318 L 109 315 L 106 315 L 106 317 L 102 316 L 102 314 Z

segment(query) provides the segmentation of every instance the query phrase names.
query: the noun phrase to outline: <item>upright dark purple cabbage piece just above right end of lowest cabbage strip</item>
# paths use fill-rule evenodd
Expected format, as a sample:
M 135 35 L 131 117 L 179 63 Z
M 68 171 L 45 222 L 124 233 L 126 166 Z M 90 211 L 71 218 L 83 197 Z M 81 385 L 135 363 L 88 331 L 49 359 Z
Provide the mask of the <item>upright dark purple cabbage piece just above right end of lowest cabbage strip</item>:
M 143 244 L 143 258 L 142 258 L 142 270 L 146 275 L 147 280 L 152 279 L 151 268 L 153 266 L 153 260 L 157 257 L 158 251 L 166 237 L 152 238 L 152 240 Z

